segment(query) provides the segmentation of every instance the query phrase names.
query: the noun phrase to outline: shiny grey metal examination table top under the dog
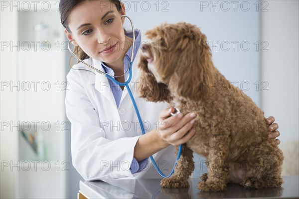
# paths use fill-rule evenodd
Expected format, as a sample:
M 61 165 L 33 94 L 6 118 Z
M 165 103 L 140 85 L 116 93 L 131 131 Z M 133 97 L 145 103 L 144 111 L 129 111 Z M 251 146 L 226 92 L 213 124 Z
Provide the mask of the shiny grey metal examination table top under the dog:
M 160 179 L 80 181 L 80 193 L 88 199 L 289 199 L 299 198 L 299 176 L 284 176 L 281 188 L 246 189 L 228 184 L 225 192 L 204 193 L 197 189 L 200 179 L 189 179 L 189 188 L 161 188 Z

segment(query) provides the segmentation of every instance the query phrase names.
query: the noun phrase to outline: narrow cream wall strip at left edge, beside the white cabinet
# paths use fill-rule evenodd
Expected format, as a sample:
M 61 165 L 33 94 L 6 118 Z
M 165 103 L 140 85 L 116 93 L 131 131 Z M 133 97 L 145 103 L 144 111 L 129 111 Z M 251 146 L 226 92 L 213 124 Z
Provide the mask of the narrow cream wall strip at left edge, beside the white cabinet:
M 9 19 L 9 20 L 8 20 Z M 1 41 L 17 41 L 17 14 L 16 11 L 1 10 L 0 12 L 0 40 Z M 9 31 L 5 31 L 9 29 Z M 2 47 L 2 45 L 1 45 Z M 10 48 L 1 49 L 0 51 L 0 77 L 1 85 L 4 81 L 16 82 L 16 51 L 10 51 Z M 15 89 L 14 89 L 15 90 Z M 0 95 L 0 118 L 1 118 L 1 133 L 0 133 L 0 198 L 8 199 L 14 198 L 14 167 L 10 169 L 10 161 L 16 163 L 17 160 L 17 128 L 14 127 L 10 130 L 10 125 L 4 128 L 2 124 L 4 121 L 13 121 L 16 124 L 17 121 L 17 92 L 10 91 L 10 89 L 3 89 Z M 9 166 L 2 171 L 2 166 L 8 161 Z

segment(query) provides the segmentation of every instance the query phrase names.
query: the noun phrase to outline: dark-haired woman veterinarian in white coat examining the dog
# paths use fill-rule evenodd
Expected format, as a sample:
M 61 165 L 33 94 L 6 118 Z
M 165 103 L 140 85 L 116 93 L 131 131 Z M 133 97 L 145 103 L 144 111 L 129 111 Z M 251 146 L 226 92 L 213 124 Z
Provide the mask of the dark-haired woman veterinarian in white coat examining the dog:
M 119 0 L 60 0 L 61 23 L 76 55 L 119 82 L 134 51 L 130 88 L 137 102 L 147 134 L 142 135 L 138 118 L 126 88 L 78 63 L 67 75 L 66 114 L 71 127 L 73 166 L 85 180 L 161 178 L 148 157 L 153 155 L 164 173 L 172 170 L 174 148 L 195 133 L 194 113 L 170 116 L 173 107 L 139 98 L 136 89 L 137 62 L 144 37 L 135 30 L 125 32 L 125 6 Z M 128 19 L 127 19 L 128 20 Z M 142 86 L 142 85 L 141 85 Z M 272 138 L 278 125 L 269 117 Z M 277 140 L 279 144 L 279 140 Z M 237 172 L 237 171 L 236 171 Z

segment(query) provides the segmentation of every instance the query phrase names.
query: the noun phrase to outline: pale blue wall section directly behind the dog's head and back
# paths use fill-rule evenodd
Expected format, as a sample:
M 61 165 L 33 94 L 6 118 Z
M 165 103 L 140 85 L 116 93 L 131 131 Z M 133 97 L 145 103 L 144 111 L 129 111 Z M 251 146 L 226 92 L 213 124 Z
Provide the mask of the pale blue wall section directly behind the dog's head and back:
M 260 40 L 257 1 L 123 1 L 126 14 L 133 19 L 135 28 L 141 30 L 162 22 L 196 24 L 208 38 L 214 65 L 260 105 L 260 92 L 255 85 L 260 80 L 260 50 L 256 50 L 256 42 Z

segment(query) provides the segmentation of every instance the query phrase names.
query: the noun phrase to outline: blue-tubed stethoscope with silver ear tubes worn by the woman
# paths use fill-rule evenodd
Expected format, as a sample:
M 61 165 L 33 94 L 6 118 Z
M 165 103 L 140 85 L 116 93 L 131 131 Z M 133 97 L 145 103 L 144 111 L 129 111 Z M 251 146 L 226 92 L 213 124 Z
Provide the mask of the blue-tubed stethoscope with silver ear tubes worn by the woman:
M 141 116 L 140 116 L 138 107 L 137 107 L 137 105 L 136 105 L 135 99 L 134 99 L 134 97 L 133 97 L 133 94 L 132 94 L 131 89 L 130 89 L 130 86 L 129 86 L 129 83 L 130 83 L 130 81 L 131 81 L 131 79 L 132 79 L 132 65 L 133 65 L 133 55 L 134 55 L 133 51 L 134 51 L 134 47 L 135 47 L 135 31 L 134 31 L 134 25 L 133 25 L 133 22 L 132 22 L 132 20 L 131 20 L 131 18 L 130 18 L 129 16 L 127 16 L 127 15 L 122 15 L 121 17 L 127 17 L 127 18 L 130 20 L 130 23 L 131 23 L 131 26 L 132 26 L 132 30 L 133 30 L 133 44 L 132 44 L 131 59 L 130 59 L 130 62 L 129 62 L 129 67 L 128 67 L 127 71 L 126 71 L 123 75 L 121 75 L 121 76 L 112 76 L 112 75 L 110 75 L 110 74 L 108 74 L 108 73 L 105 73 L 105 72 L 103 72 L 103 71 L 101 71 L 101 70 L 99 70 L 99 69 L 97 69 L 97 68 L 91 66 L 90 64 L 84 62 L 83 60 L 81 60 L 79 57 L 77 57 L 77 56 L 75 55 L 75 53 L 74 53 L 74 52 L 71 50 L 71 48 L 70 48 L 70 43 L 71 43 L 73 40 L 70 40 L 70 41 L 68 42 L 67 46 L 68 46 L 69 51 L 72 53 L 72 55 L 73 55 L 78 61 L 80 61 L 81 63 L 85 64 L 86 66 L 88 66 L 88 67 L 94 69 L 94 70 L 97 71 L 98 73 L 100 73 L 100 74 L 102 74 L 102 75 L 105 75 L 108 79 L 110 79 L 110 80 L 113 81 L 114 83 L 118 84 L 119 86 L 126 86 L 126 88 L 127 88 L 127 90 L 128 90 L 128 93 L 129 93 L 129 95 L 130 95 L 130 97 L 131 97 L 132 103 L 133 103 L 133 105 L 134 105 L 134 108 L 135 108 L 135 111 L 136 111 L 136 114 L 137 114 L 137 117 L 138 117 L 138 120 L 139 120 L 139 124 L 140 124 L 140 127 L 141 127 L 142 134 L 144 135 L 144 134 L 146 134 L 146 132 L 145 132 L 145 128 L 144 128 L 144 126 L 143 126 L 142 119 L 141 119 Z M 129 78 L 128 78 L 128 80 L 125 81 L 124 83 L 119 82 L 119 81 L 117 81 L 117 80 L 115 79 L 116 77 L 122 77 L 122 76 L 124 76 L 128 71 L 129 71 Z M 177 112 L 176 112 L 175 114 L 179 113 L 178 109 L 176 109 L 176 111 L 177 111 Z M 171 114 L 171 115 L 174 115 L 174 114 Z M 179 148 L 178 148 L 178 152 L 177 152 L 177 156 L 176 156 L 176 159 L 175 159 L 175 163 L 174 163 L 173 169 L 172 169 L 171 173 L 170 173 L 168 176 L 164 175 L 164 174 L 161 172 L 161 170 L 158 168 L 158 166 L 157 166 L 157 164 L 155 163 L 155 161 L 154 161 L 154 159 L 153 159 L 152 156 L 150 156 L 149 158 L 150 158 L 150 160 L 151 160 L 151 162 L 152 162 L 154 168 L 157 170 L 157 172 L 158 172 L 163 178 L 168 178 L 168 177 L 170 177 L 170 176 L 174 173 L 174 168 L 175 168 L 175 166 L 176 166 L 176 164 L 177 164 L 177 161 L 178 161 L 178 159 L 179 159 L 179 157 L 180 157 L 180 155 L 181 155 L 181 151 L 182 151 L 182 145 L 180 145 Z

